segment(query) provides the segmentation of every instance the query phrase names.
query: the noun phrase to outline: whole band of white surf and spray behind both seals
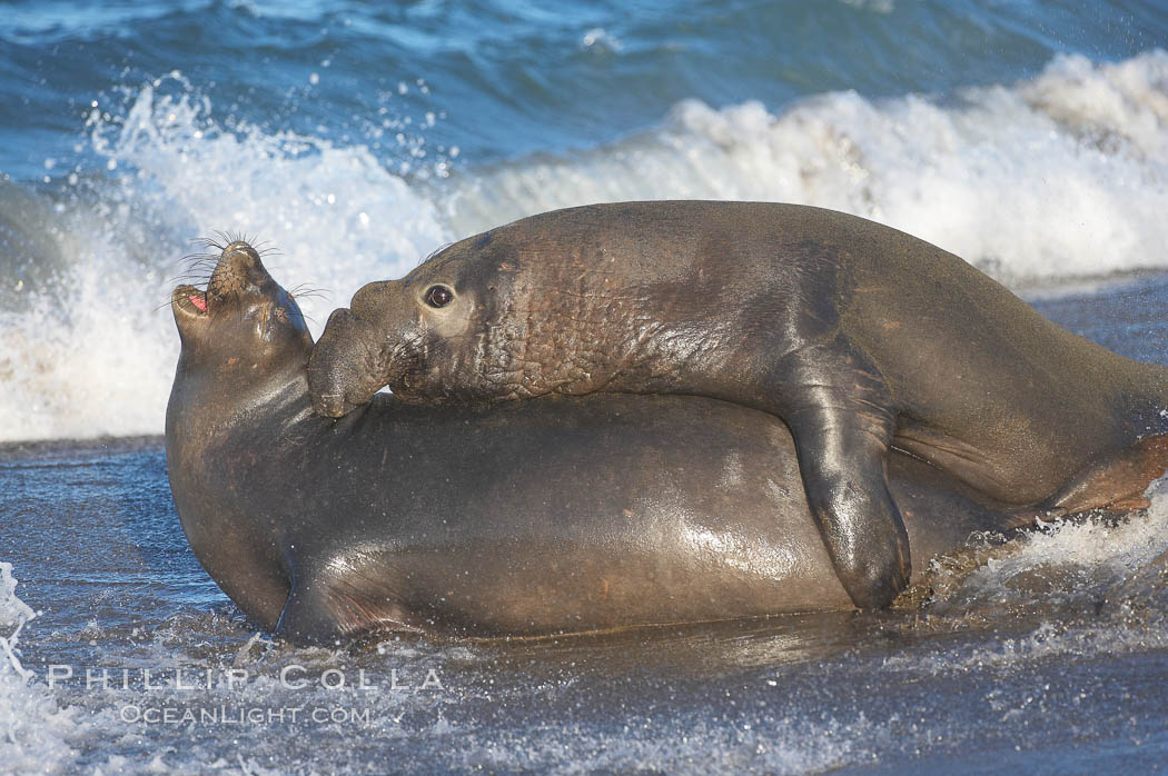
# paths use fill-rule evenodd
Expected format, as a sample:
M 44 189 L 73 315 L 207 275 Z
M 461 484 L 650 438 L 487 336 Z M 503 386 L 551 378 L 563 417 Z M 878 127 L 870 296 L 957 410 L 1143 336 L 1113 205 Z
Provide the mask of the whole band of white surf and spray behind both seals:
M 104 177 L 77 180 L 76 197 L 44 208 L 54 229 L 34 230 L 63 268 L 48 289 L 25 286 L 20 305 L 0 307 L 0 441 L 161 432 L 178 338 L 158 306 L 187 240 L 216 230 L 270 240 L 283 252 L 267 261 L 278 280 L 331 292 L 304 301 L 314 334 L 362 284 L 443 243 L 597 201 L 830 207 L 1006 279 L 1168 264 L 1163 51 L 1061 57 L 1030 81 L 947 100 L 833 93 L 781 113 L 684 102 L 659 130 L 612 146 L 426 182 L 361 145 L 228 132 L 179 74 L 105 111 L 89 127 Z

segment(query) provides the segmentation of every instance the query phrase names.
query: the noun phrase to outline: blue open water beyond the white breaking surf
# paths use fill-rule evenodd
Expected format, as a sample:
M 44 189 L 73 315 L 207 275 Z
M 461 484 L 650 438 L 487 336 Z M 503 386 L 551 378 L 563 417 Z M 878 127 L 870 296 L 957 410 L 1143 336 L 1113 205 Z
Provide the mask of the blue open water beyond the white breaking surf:
M 75 148 L 92 102 L 117 112 L 173 70 L 227 131 L 366 145 L 389 169 L 458 147 L 454 167 L 473 170 L 611 144 L 686 99 L 946 96 L 1058 54 L 1118 62 L 1168 41 L 1155 2 L 26 1 L 4 16 L 0 169 L 22 181 L 46 158 L 100 167 Z M 383 128 L 425 141 L 427 162 Z

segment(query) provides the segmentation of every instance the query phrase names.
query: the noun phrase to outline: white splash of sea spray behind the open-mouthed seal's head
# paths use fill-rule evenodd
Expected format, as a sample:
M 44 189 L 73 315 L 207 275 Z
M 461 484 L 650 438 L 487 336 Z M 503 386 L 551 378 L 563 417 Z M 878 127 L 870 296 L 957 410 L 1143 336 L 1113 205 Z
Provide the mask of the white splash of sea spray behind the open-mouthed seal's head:
M 434 205 L 364 147 L 222 131 L 180 74 L 142 85 L 124 116 L 95 109 L 111 179 L 83 179 L 53 216 L 57 284 L 0 308 L 0 441 L 160 433 L 178 357 L 169 289 L 190 238 L 234 230 L 266 259 L 319 334 L 364 281 L 412 267 L 446 240 Z M 0 265 L 11 257 L 0 257 Z

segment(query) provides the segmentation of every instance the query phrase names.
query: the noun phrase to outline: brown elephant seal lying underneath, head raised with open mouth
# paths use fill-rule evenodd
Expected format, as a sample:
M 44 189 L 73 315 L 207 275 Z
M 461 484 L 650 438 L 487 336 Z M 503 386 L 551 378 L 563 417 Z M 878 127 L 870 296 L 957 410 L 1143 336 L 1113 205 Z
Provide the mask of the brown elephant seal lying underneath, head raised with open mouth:
M 312 340 L 246 244 L 173 308 L 167 469 L 195 555 L 262 628 L 538 636 L 849 608 L 774 417 L 698 397 L 312 412 Z M 913 552 L 1027 516 L 894 455 Z

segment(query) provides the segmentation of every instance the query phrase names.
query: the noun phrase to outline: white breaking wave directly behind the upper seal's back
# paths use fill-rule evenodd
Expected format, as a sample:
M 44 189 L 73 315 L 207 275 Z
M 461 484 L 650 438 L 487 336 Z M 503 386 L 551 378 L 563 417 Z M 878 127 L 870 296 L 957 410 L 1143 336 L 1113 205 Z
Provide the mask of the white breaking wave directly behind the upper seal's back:
M 1007 279 L 1168 266 L 1168 54 L 1063 56 L 944 102 L 847 92 L 772 113 L 690 100 L 659 132 L 459 187 L 459 233 L 588 202 L 763 200 L 872 218 Z

